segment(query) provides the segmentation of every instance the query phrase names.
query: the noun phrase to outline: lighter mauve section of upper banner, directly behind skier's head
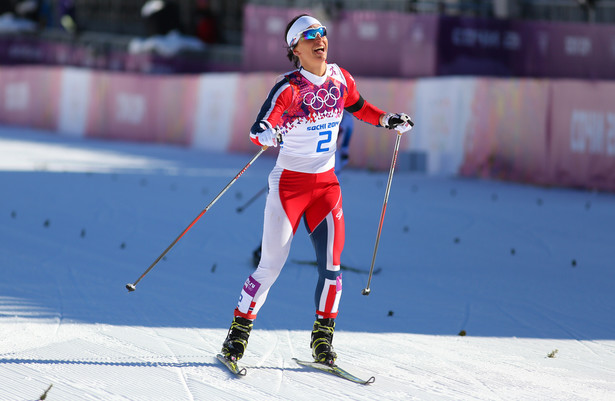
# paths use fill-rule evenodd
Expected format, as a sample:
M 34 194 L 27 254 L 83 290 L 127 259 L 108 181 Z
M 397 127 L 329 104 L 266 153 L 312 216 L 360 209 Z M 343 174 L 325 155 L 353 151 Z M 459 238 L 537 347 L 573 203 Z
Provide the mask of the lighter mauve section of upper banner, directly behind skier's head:
M 245 8 L 244 71 L 285 72 L 284 32 L 297 15 L 309 13 L 327 27 L 328 60 L 356 76 L 415 77 L 436 72 L 436 16 L 344 11 L 335 18 L 309 9 Z

